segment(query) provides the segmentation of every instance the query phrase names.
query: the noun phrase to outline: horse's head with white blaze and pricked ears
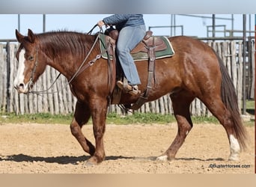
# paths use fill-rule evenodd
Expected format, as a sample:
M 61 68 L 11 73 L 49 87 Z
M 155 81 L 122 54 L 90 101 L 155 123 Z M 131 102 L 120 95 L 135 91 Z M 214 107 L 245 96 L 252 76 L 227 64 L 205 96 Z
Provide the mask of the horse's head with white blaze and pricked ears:
M 13 84 L 19 93 L 28 93 L 45 70 L 46 64 L 39 52 L 37 35 L 30 29 L 28 36 L 23 36 L 16 30 L 16 39 L 20 43 L 16 52 L 19 66 Z

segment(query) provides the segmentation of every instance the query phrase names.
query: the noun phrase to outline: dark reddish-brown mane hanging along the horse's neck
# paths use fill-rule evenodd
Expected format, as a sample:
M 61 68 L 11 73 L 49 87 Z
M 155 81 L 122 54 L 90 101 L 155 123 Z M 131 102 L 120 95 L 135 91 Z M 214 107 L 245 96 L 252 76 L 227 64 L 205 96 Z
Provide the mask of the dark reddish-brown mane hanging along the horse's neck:
M 72 55 L 84 55 L 95 36 L 76 31 L 50 31 L 37 34 L 40 40 L 40 48 L 49 56 L 58 56 L 71 53 Z

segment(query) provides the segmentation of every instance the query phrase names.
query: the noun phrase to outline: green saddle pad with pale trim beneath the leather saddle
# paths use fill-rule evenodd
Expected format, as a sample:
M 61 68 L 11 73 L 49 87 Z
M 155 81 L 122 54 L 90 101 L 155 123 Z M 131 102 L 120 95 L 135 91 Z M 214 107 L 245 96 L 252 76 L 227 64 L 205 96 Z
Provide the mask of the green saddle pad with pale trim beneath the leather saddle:
M 103 52 L 104 50 L 106 50 L 106 40 L 105 40 L 105 35 L 104 34 L 100 34 L 100 52 Z M 160 59 L 160 58 L 168 58 L 171 57 L 175 54 L 174 49 L 171 46 L 170 41 L 168 40 L 167 37 L 163 37 L 160 36 L 161 39 L 163 40 L 163 42 L 166 44 L 167 48 L 162 50 L 162 51 L 157 51 L 156 52 L 156 59 Z M 108 55 L 105 52 L 102 55 L 103 58 L 108 59 Z M 110 56 L 110 58 L 112 59 L 112 55 Z M 148 54 L 147 52 L 137 52 L 132 54 L 132 58 L 134 61 L 145 61 L 147 60 Z

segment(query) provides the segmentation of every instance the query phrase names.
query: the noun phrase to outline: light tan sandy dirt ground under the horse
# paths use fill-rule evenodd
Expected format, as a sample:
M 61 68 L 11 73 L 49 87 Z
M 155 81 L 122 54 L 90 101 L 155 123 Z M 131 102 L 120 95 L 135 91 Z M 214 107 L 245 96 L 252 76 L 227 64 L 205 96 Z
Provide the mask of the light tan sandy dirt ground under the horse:
M 177 132 L 175 123 L 159 125 L 107 125 L 106 160 L 85 166 L 84 153 L 59 124 L 0 124 L 0 173 L 58 174 L 191 174 L 255 173 L 255 126 L 247 126 L 249 150 L 240 161 L 228 161 L 229 145 L 221 125 L 195 124 L 173 162 L 156 161 Z M 92 126 L 83 132 L 92 142 Z

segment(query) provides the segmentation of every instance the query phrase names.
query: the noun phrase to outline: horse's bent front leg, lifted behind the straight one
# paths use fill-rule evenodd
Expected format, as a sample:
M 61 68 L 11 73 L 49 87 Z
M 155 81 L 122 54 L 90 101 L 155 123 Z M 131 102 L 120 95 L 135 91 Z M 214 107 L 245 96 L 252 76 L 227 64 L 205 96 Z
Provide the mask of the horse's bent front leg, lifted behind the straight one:
M 93 156 L 95 152 L 94 145 L 82 134 L 82 126 L 88 122 L 90 117 L 91 114 L 88 105 L 85 105 L 82 102 L 76 102 L 76 111 L 70 124 L 70 130 L 76 140 L 79 141 L 82 149 Z

